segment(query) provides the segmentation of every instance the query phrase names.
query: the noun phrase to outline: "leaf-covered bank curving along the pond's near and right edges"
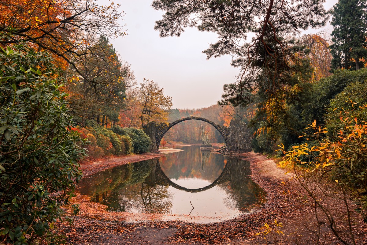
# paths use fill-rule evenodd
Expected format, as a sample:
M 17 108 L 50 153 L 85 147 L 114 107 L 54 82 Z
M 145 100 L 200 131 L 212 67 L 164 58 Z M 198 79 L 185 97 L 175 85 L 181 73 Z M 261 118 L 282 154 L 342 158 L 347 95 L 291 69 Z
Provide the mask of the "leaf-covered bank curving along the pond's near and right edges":
M 301 188 L 276 167 L 276 162 L 265 156 L 249 152 L 241 154 L 251 162 L 252 179 L 267 192 L 268 202 L 260 210 L 233 220 L 194 224 L 182 221 L 154 221 L 126 223 L 120 214 L 106 212 L 99 203 L 81 202 L 81 214 L 71 229 L 61 226 L 69 237 L 70 244 L 315 244 L 312 233 L 316 223 L 313 218 L 314 206 Z M 79 200 L 80 201 L 80 200 Z M 275 228 L 274 220 L 283 227 Z M 323 244 L 341 244 L 323 222 Z M 361 219 L 353 220 L 356 227 L 364 232 L 366 227 Z M 256 235 L 264 231 L 264 223 L 272 232 L 265 236 Z M 276 233 L 276 231 L 279 232 Z M 360 232 L 357 244 L 367 236 Z M 284 233 L 281 234 L 281 233 Z

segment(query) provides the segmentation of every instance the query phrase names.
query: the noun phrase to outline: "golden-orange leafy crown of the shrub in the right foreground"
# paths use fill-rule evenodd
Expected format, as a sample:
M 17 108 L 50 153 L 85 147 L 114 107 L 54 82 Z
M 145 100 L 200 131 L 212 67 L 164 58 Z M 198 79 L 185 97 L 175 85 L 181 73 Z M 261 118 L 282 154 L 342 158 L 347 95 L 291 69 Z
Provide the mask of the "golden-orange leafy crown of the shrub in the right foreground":
M 357 106 L 355 102 L 351 103 L 352 110 L 334 110 L 339 115 L 338 122 L 333 122 L 339 127 L 335 134 L 327 131 L 328 125 L 317 126 L 315 121 L 308 127 L 315 133 L 300 136 L 319 144 L 304 143 L 289 151 L 280 145 L 285 156 L 279 166 L 302 168 L 305 174 L 300 176 L 301 179 L 307 173 L 327 176 L 364 212 L 367 210 L 367 104 Z M 305 156 L 308 160 L 304 160 Z

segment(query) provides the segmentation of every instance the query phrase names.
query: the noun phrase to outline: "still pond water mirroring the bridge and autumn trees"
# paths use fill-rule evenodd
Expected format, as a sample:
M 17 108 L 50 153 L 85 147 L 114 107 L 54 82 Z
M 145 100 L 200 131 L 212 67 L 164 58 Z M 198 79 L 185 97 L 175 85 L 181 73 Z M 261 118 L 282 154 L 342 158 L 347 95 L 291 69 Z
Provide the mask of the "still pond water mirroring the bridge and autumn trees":
M 159 213 L 228 220 L 266 202 L 250 162 L 200 146 L 121 165 L 84 178 L 77 190 L 112 212 Z

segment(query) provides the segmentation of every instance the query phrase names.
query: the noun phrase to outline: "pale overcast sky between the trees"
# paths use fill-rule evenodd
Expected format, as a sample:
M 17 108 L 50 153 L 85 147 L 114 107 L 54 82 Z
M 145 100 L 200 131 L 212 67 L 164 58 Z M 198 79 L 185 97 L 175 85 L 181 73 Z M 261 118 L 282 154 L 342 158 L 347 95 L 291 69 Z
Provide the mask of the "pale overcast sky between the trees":
M 206 60 L 201 53 L 215 43 L 215 33 L 187 28 L 180 37 L 160 38 L 155 21 L 163 12 L 151 7 L 152 0 L 115 0 L 125 12 L 121 24 L 128 35 L 111 40 L 121 58 L 131 64 L 138 82 L 152 79 L 172 97 L 173 108 L 202 108 L 216 104 L 226 83 L 235 82 L 239 69 L 230 66 L 231 57 Z M 337 0 L 326 0 L 330 9 Z M 319 30 L 331 32 L 330 25 Z

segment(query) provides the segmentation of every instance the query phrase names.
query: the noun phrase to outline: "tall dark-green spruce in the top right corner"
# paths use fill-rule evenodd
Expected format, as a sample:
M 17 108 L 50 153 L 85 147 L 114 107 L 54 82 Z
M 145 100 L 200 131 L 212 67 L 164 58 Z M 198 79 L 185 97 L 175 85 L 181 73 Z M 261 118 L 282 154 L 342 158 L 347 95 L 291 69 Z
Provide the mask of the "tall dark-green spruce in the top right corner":
M 358 70 L 363 67 L 361 58 L 367 57 L 366 0 L 339 0 L 333 9 L 331 25 L 334 26 L 331 32 L 334 42 L 331 45 L 331 68 L 355 67 Z

